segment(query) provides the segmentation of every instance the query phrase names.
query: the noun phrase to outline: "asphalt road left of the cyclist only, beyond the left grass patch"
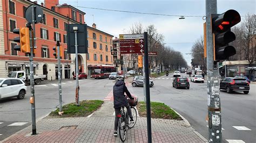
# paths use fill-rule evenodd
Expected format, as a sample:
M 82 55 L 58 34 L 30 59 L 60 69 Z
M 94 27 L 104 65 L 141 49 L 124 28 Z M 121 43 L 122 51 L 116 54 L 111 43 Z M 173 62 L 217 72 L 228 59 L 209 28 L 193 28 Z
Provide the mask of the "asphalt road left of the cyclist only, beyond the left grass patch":
M 103 100 L 112 90 L 114 81 L 107 79 L 79 80 L 80 101 L 84 99 Z M 63 105 L 75 102 L 76 81 L 63 81 Z M 11 134 L 31 124 L 30 87 L 24 99 L 5 99 L 0 101 L 0 142 Z M 35 85 L 36 119 L 48 115 L 59 106 L 58 82 Z M 15 124 L 14 124 L 15 123 Z M 18 123 L 18 125 L 16 125 Z M 22 124 L 20 124 L 22 123 Z M 32 130 L 32 129 L 31 129 Z

